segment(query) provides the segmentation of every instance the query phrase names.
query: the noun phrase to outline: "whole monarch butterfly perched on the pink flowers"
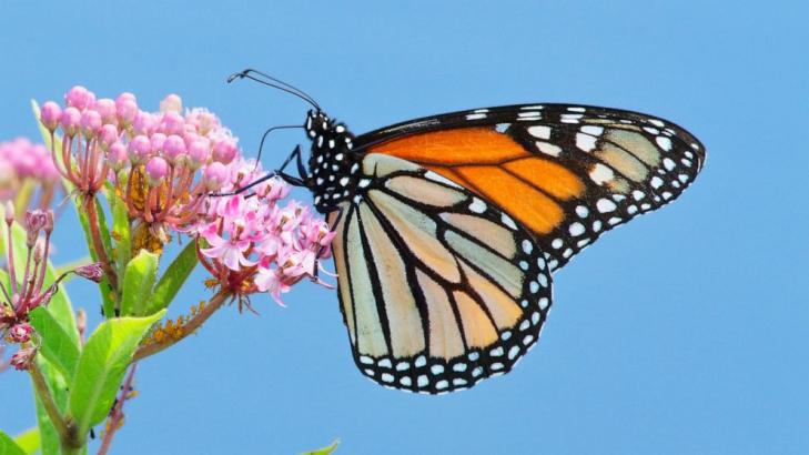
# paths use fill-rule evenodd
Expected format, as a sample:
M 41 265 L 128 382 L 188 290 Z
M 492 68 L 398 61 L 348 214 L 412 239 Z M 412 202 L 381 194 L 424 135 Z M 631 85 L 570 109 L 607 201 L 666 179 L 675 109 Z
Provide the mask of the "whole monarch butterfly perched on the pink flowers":
M 412 392 L 510 371 L 539 338 L 552 273 L 676 199 L 706 156 L 669 121 L 567 104 L 475 109 L 355 136 L 292 85 L 254 70 L 235 78 L 313 105 L 307 165 L 299 146 L 276 173 L 311 190 L 337 233 L 337 293 L 360 371 Z M 283 173 L 293 158 L 300 176 Z

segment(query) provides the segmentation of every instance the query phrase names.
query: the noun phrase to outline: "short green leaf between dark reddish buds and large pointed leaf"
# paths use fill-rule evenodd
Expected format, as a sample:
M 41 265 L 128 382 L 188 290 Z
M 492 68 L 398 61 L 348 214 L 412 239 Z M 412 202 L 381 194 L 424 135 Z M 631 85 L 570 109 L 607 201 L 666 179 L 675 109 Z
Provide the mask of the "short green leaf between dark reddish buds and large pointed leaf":
M 64 327 L 44 307 L 30 314 L 31 325 L 42 340 L 41 353 L 64 377 L 73 377 L 79 362 L 79 344 L 64 332 Z

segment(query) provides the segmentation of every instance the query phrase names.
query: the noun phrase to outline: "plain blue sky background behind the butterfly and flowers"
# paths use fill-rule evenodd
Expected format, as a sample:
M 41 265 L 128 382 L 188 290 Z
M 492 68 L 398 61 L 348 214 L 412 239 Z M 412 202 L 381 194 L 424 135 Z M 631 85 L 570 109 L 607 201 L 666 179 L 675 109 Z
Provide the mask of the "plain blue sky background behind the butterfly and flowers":
M 681 200 L 556 276 L 540 347 L 513 373 L 439 397 L 382 388 L 353 365 L 336 295 L 305 285 L 287 309 L 256 296 L 261 316 L 226 309 L 143 362 L 113 453 L 292 454 L 335 437 L 342 454 L 809 452 L 808 3 L 485 3 L 2 7 L 3 139 L 37 136 L 30 98 L 81 83 L 151 109 L 176 92 L 254 153 L 306 110 L 224 83 L 256 67 L 357 133 L 555 101 L 654 113 L 708 148 Z M 303 141 L 279 133 L 264 162 Z M 82 256 L 72 215 L 59 229 L 57 261 Z M 208 295 L 203 279 L 175 313 Z M 98 294 L 70 289 L 97 315 Z M 0 397 L 1 428 L 34 423 L 24 375 L 2 374 Z

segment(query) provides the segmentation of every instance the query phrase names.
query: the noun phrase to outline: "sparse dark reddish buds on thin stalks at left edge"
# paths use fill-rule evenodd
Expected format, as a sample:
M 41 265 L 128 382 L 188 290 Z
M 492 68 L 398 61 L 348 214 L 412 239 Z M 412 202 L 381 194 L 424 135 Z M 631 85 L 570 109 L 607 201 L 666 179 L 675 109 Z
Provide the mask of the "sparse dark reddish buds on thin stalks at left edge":
M 14 257 L 12 241 L 12 226 L 14 224 L 13 205 L 6 203 L 4 221 L 7 225 L 6 240 L 8 241 L 8 273 L 9 287 L 0 282 L 0 340 L 22 344 L 21 348 L 11 357 L 11 363 L 18 370 L 26 370 L 36 348 L 27 346 L 31 341 L 33 328 L 28 316 L 31 311 L 47 305 L 58 291 L 59 283 L 69 274 L 75 273 L 94 282 L 101 281 L 101 265 L 92 263 L 80 266 L 59 276 L 48 287 L 44 286 L 48 270 L 48 254 L 50 252 L 51 232 L 53 232 L 53 213 L 51 211 L 32 210 L 26 213 L 26 259 L 24 269 L 20 270 Z M 44 233 L 44 237 L 41 235 Z

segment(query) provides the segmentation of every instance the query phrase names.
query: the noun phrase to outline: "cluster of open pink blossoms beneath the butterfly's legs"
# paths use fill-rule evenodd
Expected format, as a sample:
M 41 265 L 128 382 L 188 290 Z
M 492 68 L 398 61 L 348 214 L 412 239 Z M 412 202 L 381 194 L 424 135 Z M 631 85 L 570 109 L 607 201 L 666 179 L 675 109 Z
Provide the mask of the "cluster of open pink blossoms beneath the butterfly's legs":
M 200 261 L 221 286 L 240 297 L 267 292 L 283 305 L 281 294 L 304 277 L 323 284 L 318 260 L 331 256 L 334 233 L 307 206 L 281 204 L 290 193 L 283 180 L 274 176 L 251 185 L 263 171 L 242 158 L 227 166 L 212 164 L 205 173 L 225 192 L 250 186 L 239 194 L 209 198 L 191 228 L 198 234 Z

